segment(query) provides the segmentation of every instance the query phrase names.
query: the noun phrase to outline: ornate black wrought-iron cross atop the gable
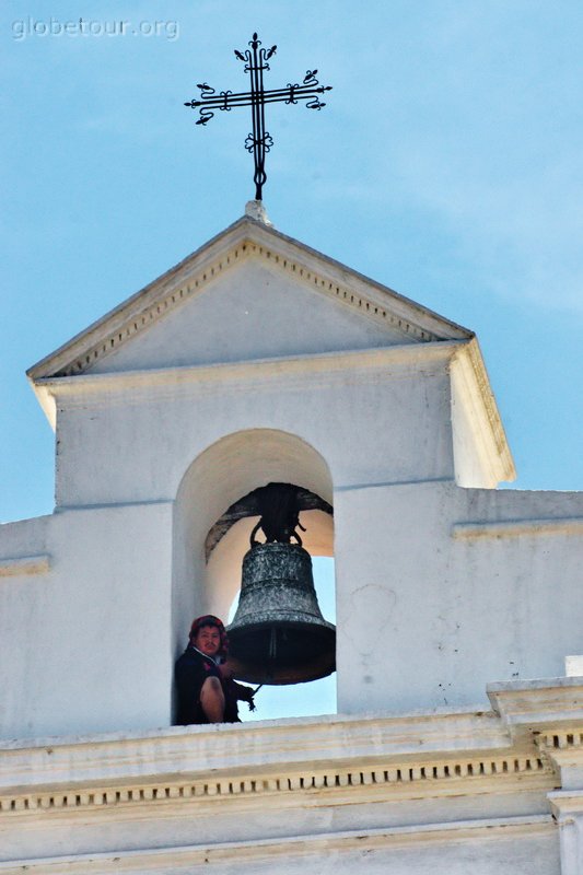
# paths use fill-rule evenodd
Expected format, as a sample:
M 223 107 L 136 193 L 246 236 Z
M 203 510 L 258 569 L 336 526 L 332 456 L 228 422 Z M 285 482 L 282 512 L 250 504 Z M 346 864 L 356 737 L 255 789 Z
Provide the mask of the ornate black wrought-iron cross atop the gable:
M 217 94 L 215 90 L 208 85 L 206 82 L 197 85 L 200 89 L 200 100 L 189 101 L 185 106 L 190 106 L 193 109 L 200 107 L 200 118 L 197 125 L 206 125 L 213 117 L 213 109 L 221 109 L 230 112 L 234 106 L 250 106 L 253 119 L 253 132 L 248 135 L 245 140 L 245 149 L 247 152 L 253 152 L 255 160 L 255 199 L 261 200 L 261 191 L 267 179 L 265 172 L 265 155 L 273 145 L 273 140 L 269 131 L 265 129 L 265 105 L 266 103 L 281 103 L 295 104 L 298 101 L 305 101 L 308 109 L 322 109 L 326 106 L 318 94 L 324 94 L 325 91 L 331 91 L 330 85 L 320 85 L 316 79 L 317 70 L 307 70 L 304 81 L 301 85 L 292 85 L 288 82 L 284 89 L 273 89 L 265 91 L 264 89 L 264 70 L 269 70 L 267 61 L 276 54 L 277 46 L 269 49 L 260 48 L 261 40 L 257 38 L 257 34 L 253 35 L 249 42 L 250 49 L 245 51 L 237 51 L 235 56 L 240 61 L 245 62 L 245 72 L 250 75 L 250 91 L 241 93 L 233 93 L 232 91 L 221 91 Z

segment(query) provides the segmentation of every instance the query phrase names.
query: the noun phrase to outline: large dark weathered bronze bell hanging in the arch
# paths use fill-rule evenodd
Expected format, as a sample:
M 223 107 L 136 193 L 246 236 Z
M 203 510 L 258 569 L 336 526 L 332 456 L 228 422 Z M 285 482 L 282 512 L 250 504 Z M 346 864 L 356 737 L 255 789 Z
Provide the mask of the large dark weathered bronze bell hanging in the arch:
M 252 684 L 300 684 L 336 668 L 336 629 L 322 616 L 312 559 L 295 532 L 303 528 L 295 491 L 287 483 L 259 490 L 261 520 L 243 559 L 238 607 L 228 632 L 235 677 Z M 255 540 L 259 528 L 265 544 Z

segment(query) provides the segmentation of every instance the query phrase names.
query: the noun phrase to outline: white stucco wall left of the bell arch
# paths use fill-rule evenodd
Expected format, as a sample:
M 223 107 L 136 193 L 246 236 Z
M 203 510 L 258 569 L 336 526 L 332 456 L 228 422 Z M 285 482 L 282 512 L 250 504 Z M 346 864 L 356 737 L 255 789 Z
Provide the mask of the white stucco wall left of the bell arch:
M 2 558 L 31 555 L 18 525 Z M 45 527 L 48 572 L 0 576 L 2 737 L 167 726 L 172 506 L 57 513 Z

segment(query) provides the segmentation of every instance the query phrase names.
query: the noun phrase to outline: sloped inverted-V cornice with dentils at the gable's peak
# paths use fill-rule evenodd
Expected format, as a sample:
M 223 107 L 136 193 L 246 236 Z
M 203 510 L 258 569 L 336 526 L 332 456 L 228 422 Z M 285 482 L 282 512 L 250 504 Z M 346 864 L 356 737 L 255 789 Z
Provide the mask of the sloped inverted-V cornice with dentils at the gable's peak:
M 357 310 L 390 330 L 418 341 L 467 340 L 466 328 L 370 280 L 299 241 L 244 217 L 176 267 L 129 298 L 77 335 L 56 352 L 33 365 L 36 382 L 46 376 L 70 376 L 91 369 L 128 339 L 148 330 L 166 313 L 206 288 L 223 271 L 248 258 L 259 258 L 312 289 Z

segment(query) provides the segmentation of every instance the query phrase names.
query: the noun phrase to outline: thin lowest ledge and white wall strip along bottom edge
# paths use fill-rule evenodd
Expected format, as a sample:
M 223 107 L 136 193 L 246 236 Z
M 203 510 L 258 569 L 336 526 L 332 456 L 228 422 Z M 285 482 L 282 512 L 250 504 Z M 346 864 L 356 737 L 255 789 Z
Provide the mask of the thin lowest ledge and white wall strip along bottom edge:
M 269 818 L 266 828 L 269 829 Z M 293 839 L 268 842 L 208 843 L 170 845 L 129 851 L 115 850 L 90 852 L 77 858 L 71 854 L 26 859 L 16 858 L 14 863 L 0 863 L 0 872 L 16 875 L 22 871 L 39 873 L 56 872 L 153 872 L 156 875 L 193 872 L 226 873 L 305 873 L 306 868 L 317 873 L 352 873 L 362 871 L 397 875 L 410 873 L 447 873 L 467 875 L 491 875 L 503 871 L 511 875 L 559 875 L 559 849 L 551 826 L 546 829 L 535 824 L 532 835 L 526 829 L 522 835 L 512 835 L 505 824 L 486 822 L 480 832 L 475 825 L 463 838 L 454 830 L 423 835 L 413 830 L 390 831 L 378 829 L 373 836 L 347 832 L 322 839 L 298 836 Z M 478 833 L 478 835 L 471 835 Z M 510 835 L 509 835 L 510 833 Z M 53 836 L 58 835 L 56 829 Z M 69 837 L 67 837 L 69 838 Z M 68 842 L 63 841 L 67 845 Z M 120 870 L 120 866 L 123 868 Z M 570 875 L 570 873 L 568 873 Z

